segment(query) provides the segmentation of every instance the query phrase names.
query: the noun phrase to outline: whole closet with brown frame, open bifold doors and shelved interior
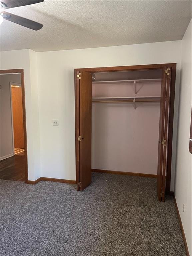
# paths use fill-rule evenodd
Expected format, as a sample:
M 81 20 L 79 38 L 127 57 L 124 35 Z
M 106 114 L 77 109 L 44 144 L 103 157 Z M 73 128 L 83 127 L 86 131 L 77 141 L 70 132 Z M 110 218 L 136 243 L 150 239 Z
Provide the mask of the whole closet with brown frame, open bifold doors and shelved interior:
M 76 181 L 91 172 L 157 178 L 170 192 L 176 64 L 75 70 Z

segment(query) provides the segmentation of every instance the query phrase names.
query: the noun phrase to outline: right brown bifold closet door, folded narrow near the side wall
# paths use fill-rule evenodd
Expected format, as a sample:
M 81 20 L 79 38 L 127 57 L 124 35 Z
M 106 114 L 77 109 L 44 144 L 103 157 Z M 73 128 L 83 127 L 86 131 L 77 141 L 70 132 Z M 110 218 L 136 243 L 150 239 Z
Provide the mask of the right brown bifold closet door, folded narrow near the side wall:
M 159 201 L 165 200 L 165 179 L 167 165 L 168 145 L 168 118 L 169 118 L 169 95 L 171 83 L 171 69 L 165 67 L 162 74 L 161 102 L 159 120 L 159 148 L 157 170 L 157 195 Z

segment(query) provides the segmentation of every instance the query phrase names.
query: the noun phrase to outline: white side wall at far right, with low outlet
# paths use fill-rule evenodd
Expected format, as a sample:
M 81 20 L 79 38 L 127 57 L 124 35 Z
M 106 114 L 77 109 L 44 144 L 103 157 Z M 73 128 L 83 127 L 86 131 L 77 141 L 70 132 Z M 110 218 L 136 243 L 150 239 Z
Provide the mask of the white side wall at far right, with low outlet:
M 189 152 L 191 121 L 192 85 L 191 85 L 191 22 L 182 40 L 181 84 L 178 118 L 178 143 L 175 179 L 175 198 L 181 216 L 190 255 L 191 248 L 191 172 L 192 155 Z M 183 204 L 185 211 L 183 212 Z

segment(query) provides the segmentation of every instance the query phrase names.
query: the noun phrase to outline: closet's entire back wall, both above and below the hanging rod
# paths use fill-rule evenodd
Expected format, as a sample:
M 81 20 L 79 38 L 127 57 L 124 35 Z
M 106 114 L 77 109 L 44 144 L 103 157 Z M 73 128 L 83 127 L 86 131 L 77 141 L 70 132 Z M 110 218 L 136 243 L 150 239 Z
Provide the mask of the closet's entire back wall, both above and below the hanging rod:
M 157 175 L 161 71 L 152 79 L 140 72 L 92 82 L 92 169 Z

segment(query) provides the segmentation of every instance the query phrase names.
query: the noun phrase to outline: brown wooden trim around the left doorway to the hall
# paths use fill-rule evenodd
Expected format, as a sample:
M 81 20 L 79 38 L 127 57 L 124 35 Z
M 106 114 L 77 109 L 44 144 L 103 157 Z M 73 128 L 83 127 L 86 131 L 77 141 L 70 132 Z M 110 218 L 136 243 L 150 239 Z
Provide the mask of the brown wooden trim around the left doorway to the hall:
M 23 69 L 6 69 L 0 70 L 0 74 L 20 73 L 21 74 L 21 89 L 22 89 L 22 105 L 23 105 L 23 132 L 25 146 L 25 183 L 28 183 L 28 161 L 27 161 L 27 128 L 26 128 L 26 110 L 25 110 L 25 84 Z

